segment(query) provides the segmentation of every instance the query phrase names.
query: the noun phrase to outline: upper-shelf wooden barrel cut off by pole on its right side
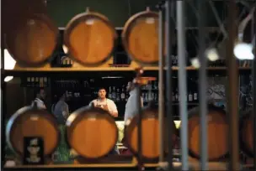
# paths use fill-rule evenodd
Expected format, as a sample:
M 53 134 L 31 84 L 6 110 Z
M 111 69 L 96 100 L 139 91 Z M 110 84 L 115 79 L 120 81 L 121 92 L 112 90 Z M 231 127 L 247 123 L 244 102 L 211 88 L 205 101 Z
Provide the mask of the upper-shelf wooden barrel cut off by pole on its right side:
M 147 8 L 131 16 L 125 23 L 122 42 L 131 60 L 141 65 L 157 65 L 158 13 Z

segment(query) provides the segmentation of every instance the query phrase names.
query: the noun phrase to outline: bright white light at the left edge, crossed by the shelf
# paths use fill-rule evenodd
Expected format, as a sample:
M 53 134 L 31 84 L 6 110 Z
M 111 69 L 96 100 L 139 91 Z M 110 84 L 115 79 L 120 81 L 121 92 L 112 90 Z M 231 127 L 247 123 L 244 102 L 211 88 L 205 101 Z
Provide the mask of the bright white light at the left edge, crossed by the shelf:
M 1 50 L 0 49 L 0 59 L 1 57 Z M 2 60 L 0 60 L 0 65 L 2 64 Z M 7 49 L 4 49 L 4 70 L 13 70 L 14 66 L 16 65 L 16 60 L 13 60 L 11 54 L 8 53 Z M 5 82 L 13 80 L 13 76 L 7 76 L 4 78 Z

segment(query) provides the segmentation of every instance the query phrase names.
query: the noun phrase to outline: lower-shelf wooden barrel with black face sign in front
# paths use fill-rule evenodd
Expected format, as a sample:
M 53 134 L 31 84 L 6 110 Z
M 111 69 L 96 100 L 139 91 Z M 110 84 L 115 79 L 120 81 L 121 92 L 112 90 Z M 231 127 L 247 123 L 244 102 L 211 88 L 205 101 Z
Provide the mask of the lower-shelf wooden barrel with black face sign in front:
M 24 137 L 42 137 L 45 157 L 49 157 L 61 138 L 56 118 L 33 106 L 20 108 L 8 120 L 6 129 L 8 146 L 20 157 L 24 154 Z

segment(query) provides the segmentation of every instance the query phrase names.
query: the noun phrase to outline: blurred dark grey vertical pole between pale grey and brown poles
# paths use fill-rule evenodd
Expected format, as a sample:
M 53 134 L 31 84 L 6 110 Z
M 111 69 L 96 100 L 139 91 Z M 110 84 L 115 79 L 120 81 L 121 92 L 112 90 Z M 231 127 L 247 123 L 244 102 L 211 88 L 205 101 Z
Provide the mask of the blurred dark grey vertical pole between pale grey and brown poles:
M 208 140 L 207 140 L 207 104 L 206 104 L 206 65 L 207 60 L 205 56 L 205 4 L 206 1 L 198 1 L 198 35 L 199 35 L 199 59 L 200 59 L 200 69 L 199 69 L 199 95 L 200 95 L 200 169 L 208 170 Z

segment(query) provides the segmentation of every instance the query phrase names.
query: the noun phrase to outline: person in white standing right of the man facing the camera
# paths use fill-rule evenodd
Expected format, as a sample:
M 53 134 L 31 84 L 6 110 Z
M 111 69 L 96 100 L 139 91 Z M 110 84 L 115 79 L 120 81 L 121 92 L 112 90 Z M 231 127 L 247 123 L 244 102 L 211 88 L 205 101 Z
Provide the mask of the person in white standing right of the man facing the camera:
M 132 117 L 135 117 L 138 109 L 136 108 L 136 89 L 135 85 L 130 81 L 126 86 L 126 91 L 129 92 L 130 96 L 125 105 L 125 122 Z M 141 98 L 141 107 L 143 107 L 143 100 Z

